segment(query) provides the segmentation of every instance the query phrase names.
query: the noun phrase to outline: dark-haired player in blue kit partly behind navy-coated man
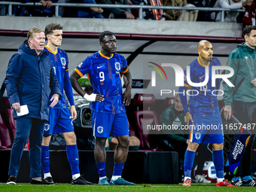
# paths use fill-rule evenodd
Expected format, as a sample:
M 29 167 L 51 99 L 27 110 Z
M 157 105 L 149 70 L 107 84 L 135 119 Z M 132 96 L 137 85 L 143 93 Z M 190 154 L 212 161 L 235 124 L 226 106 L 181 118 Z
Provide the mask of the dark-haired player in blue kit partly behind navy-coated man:
M 59 49 L 62 43 L 62 26 L 51 23 L 45 27 L 44 32 L 48 40 L 44 50 L 50 56 L 62 92 L 62 99 L 54 107 L 50 108 L 49 121 L 44 126 L 44 136 L 41 146 L 41 164 L 44 172 L 44 181 L 48 184 L 54 184 L 49 169 L 49 144 L 53 133 L 62 133 L 66 140 L 66 154 L 72 169 L 72 184 L 93 184 L 86 181 L 80 175 L 79 171 L 78 148 L 72 121 L 76 119 L 77 113 L 73 99 L 72 85 L 69 80 L 69 59 L 67 53 Z M 63 95 L 64 90 L 71 105 L 70 111 Z

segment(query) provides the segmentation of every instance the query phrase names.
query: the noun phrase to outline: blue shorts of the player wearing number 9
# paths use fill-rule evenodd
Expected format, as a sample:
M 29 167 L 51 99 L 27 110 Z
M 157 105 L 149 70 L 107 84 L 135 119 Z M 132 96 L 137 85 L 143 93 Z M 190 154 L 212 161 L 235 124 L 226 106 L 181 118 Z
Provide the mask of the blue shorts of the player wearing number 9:
M 126 113 L 105 114 L 92 111 L 93 136 L 126 136 L 129 135 L 129 125 Z

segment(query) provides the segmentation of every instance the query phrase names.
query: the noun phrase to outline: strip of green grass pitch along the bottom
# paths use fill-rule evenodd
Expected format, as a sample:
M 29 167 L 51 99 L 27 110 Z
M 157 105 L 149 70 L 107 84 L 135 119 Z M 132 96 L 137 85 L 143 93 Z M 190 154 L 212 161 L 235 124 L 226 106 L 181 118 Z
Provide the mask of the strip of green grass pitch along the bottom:
M 249 192 L 255 191 L 255 187 L 215 187 L 215 184 L 192 184 L 191 187 L 182 187 L 181 184 L 136 184 L 135 186 L 101 186 L 95 184 L 93 186 L 73 185 L 73 184 L 54 184 L 54 185 L 38 185 L 20 183 L 15 185 L 0 184 L 0 191 L 24 191 L 24 192 L 89 192 L 89 191 L 232 191 L 232 192 Z

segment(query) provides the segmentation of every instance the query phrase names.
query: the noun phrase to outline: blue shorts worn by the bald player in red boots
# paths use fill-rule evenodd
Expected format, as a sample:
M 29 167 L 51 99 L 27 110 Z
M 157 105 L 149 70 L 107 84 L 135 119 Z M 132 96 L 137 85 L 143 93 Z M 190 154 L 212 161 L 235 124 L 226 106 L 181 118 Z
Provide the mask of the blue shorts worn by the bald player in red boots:
M 194 115 L 192 115 L 194 116 Z M 193 117 L 190 121 L 189 142 L 197 143 L 222 143 L 224 142 L 223 125 L 219 112 L 209 115 Z

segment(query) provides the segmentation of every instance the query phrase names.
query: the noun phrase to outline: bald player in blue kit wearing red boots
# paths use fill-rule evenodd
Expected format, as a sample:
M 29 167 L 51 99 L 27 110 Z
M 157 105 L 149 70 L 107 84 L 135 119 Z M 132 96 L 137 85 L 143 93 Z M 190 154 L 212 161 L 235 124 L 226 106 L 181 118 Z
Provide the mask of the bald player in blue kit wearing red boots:
M 224 180 L 224 136 L 222 130 L 221 115 L 218 108 L 217 92 L 220 79 L 216 87 L 212 87 L 212 66 L 221 66 L 221 62 L 212 57 L 213 47 L 209 41 L 202 40 L 198 43 L 197 53 L 199 57 L 189 64 L 190 75 L 184 70 L 184 87 L 179 87 L 179 96 L 186 113 L 187 125 L 190 127 L 189 143 L 184 155 L 184 183 L 182 186 L 190 186 L 191 169 L 194 163 L 195 153 L 200 143 L 212 143 L 212 160 L 215 164 L 217 187 L 236 187 Z M 206 66 L 209 74 L 206 74 Z M 216 70 L 215 72 L 218 72 Z M 190 76 L 190 77 L 189 77 Z M 202 87 L 191 87 L 187 78 L 193 83 L 202 83 L 205 78 L 209 81 Z M 190 87 L 189 108 L 187 105 L 187 88 Z

